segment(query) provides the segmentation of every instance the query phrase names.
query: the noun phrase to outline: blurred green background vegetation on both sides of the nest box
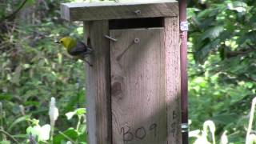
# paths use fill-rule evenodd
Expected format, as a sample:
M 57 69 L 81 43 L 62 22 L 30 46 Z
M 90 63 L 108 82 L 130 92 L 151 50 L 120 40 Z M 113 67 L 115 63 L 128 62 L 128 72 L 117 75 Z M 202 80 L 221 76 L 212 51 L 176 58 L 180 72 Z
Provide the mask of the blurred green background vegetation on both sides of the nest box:
M 0 126 L 20 142 L 27 117 L 49 123 L 51 97 L 61 131 L 76 126 L 66 112 L 85 106 L 84 64 L 54 43 L 67 35 L 82 39 L 82 23 L 60 18 L 61 2 L 70 1 L 0 0 Z M 190 130 L 210 119 L 217 142 L 225 130 L 229 142 L 245 142 L 256 92 L 255 6 L 254 0 L 188 0 Z

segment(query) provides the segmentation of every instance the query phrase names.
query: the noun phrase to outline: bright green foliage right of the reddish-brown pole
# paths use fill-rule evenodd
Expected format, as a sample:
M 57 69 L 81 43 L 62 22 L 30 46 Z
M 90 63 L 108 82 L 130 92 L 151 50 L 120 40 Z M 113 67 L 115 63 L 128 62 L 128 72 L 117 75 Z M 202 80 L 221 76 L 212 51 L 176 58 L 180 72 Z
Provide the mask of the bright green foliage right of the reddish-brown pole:
M 188 4 L 190 128 L 211 119 L 217 140 L 226 130 L 230 143 L 244 143 L 256 90 L 256 2 Z

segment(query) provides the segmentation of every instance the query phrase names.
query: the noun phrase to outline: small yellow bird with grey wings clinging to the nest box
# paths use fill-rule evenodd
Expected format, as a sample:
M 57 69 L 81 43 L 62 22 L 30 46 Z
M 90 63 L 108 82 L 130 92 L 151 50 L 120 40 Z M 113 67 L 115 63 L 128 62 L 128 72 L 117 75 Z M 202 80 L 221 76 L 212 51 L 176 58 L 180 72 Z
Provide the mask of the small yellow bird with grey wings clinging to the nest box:
M 77 59 L 86 61 L 86 57 L 93 52 L 90 46 L 86 46 L 83 42 L 76 41 L 74 38 L 64 37 L 55 43 L 60 43 L 66 48 L 68 54 Z M 90 66 L 91 64 L 87 62 Z

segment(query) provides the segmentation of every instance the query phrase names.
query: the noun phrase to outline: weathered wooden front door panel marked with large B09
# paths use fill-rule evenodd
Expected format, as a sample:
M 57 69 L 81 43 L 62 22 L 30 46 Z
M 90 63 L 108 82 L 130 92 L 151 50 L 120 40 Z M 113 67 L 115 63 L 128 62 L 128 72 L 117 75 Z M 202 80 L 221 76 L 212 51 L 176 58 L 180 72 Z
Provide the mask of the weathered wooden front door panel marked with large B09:
M 110 35 L 118 39 L 110 42 L 113 144 L 166 144 L 163 28 Z

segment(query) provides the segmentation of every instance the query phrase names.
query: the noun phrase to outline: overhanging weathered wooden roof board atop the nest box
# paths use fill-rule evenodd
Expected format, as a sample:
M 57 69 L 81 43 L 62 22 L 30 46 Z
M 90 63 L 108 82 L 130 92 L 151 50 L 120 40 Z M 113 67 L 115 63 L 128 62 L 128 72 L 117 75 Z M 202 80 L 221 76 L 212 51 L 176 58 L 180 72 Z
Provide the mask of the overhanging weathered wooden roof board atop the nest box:
M 135 13 L 135 11 L 139 13 Z M 62 3 L 62 18 L 68 21 L 92 21 L 121 18 L 153 18 L 178 16 L 178 2 L 81 2 Z

